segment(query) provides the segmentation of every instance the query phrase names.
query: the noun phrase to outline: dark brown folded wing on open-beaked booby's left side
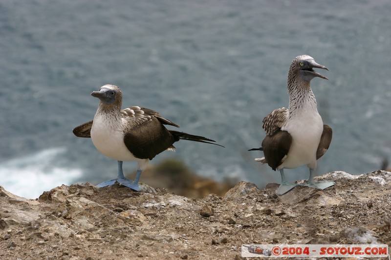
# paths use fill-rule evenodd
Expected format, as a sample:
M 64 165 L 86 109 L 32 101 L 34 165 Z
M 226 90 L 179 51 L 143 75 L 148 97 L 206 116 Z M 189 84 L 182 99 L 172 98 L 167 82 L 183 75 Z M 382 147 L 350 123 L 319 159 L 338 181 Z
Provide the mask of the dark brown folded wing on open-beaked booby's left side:
M 275 171 L 288 154 L 292 137 L 286 131 L 277 130 L 272 136 L 262 141 L 262 150 L 267 164 Z

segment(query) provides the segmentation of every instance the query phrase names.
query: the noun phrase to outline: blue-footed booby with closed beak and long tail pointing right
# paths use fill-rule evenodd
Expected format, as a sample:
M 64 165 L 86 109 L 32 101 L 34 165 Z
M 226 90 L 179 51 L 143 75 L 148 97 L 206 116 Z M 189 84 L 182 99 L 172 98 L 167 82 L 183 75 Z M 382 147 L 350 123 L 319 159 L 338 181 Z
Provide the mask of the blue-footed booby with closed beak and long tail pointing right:
M 117 178 L 104 181 L 98 187 L 118 182 L 140 191 L 138 180 L 149 160 L 165 150 L 174 150 L 176 141 L 191 140 L 221 146 L 205 137 L 168 130 L 164 125 L 179 126 L 151 109 L 139 106 L 121 109 L 122 92 L 115 85 L 104 85 L 91 96 L 100 100 L 94 119 L 75 127 L 73 134 L 91 138 L 99 152 L 118 161 Z M 134 180 L 124 177 L 123 161 L 138 162 Z

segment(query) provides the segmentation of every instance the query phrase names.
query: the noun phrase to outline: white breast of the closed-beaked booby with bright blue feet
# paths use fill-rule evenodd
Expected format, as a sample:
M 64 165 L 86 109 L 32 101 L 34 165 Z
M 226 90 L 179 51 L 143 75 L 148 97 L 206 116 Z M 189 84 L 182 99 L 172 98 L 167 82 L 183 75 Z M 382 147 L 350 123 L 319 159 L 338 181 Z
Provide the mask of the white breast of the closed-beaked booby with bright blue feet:
M 120 121 L 97 114 L 91 127 L 91 140 L 103 155 L 122 161 L 140 160 L 135 158 L 124 143 L 124 133 Z

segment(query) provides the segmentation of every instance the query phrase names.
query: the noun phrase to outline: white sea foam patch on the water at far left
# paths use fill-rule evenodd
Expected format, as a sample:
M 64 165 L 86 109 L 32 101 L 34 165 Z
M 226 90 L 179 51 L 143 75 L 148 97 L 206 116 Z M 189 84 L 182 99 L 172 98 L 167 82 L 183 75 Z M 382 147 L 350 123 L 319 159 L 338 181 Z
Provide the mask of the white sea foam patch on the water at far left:
M 0 163 L 0 185 L 15 195 L 35 199 L 43 191 L 73 183 L 82 170 L 56 163 L 65 152 L 65 148 L 51 148 Z

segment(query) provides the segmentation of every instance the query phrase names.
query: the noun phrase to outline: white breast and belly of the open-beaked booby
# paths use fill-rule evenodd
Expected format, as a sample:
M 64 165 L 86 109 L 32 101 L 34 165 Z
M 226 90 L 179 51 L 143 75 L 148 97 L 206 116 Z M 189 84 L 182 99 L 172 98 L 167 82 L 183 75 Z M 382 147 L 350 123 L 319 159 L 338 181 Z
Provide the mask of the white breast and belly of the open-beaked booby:
M 292 144 L 284 162 L 278 167 L 293 169 L 307 165 L 316 168 L 316 150 L 323 133 L 323 121 L 317 110 L 303 108 L 288 119 L 282 130 L 292 136 Z

